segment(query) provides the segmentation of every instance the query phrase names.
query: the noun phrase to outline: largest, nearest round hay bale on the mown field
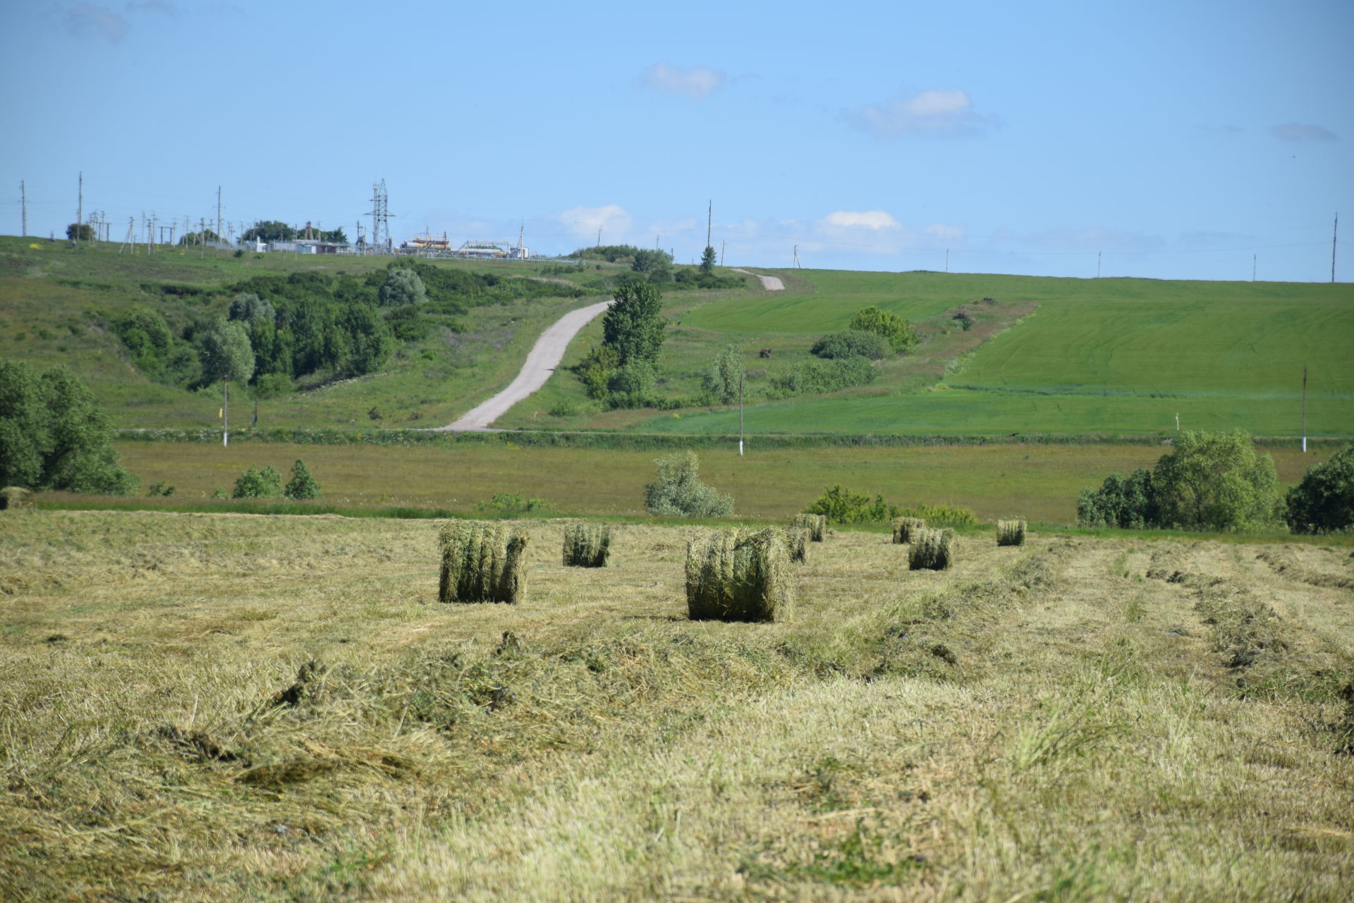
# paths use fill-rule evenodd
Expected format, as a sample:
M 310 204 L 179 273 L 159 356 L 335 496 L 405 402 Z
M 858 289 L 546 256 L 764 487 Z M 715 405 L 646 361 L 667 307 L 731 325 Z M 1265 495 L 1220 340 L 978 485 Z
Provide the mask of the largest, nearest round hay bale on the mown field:
M 686 543 L 686 612 L 692 620 L 784 620 L 795 582 L 779 529 L 720 529 Z

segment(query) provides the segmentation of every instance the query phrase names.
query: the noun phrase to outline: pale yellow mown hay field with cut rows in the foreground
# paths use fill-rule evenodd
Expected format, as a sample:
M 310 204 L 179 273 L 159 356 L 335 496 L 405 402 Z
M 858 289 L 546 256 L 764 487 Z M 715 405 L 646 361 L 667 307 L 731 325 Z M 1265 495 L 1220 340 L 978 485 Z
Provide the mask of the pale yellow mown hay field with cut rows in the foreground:
M 7 900 L 1346 900 L 1343 544 L 835 532 L 689 621 L 691 528 L 0 514 Z

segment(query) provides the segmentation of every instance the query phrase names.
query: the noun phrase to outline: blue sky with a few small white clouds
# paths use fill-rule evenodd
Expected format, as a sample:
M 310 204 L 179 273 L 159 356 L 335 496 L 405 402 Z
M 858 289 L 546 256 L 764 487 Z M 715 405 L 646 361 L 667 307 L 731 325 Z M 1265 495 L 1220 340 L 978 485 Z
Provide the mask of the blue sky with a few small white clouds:
M 129 217 L 728 264 L 1330 279 L 1354 4 L 5 3 L 0 232 Z M 1351 248 L 1354 249 L 1354 248 Z M 1338 271 L 1354 273 L 1354 257 Z

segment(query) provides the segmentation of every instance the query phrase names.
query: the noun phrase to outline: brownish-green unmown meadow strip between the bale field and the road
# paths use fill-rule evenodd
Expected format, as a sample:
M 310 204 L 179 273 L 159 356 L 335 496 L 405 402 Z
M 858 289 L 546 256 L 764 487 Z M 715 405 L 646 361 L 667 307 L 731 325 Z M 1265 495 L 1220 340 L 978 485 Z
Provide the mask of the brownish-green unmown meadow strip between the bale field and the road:
M 493 493 L 517 491 L 580 514 L 642 514 L 645 483 L 654 481 L 654 459 L 663 454 L 468 444 L 454 449 L 261 443 L 116 447 L 142 486 L 160 481 L 175 486 L 165 504 L 203 501 L 217 487 L 229 493 L 250 464 L 286 474 L 301 458 L 326 502 L 471 512 L 474 502 Z M 1078 490 L 1098 486 L 1110 471 L 1150 468 L 1167 451 L 1113 444 L 760 449 L 754 440 L 743 458 L 737 448 L 700 452 L 700 474 L 733 494 L 737 514 L 760 519 L 788 519 L 825 487 L 839 483 L 881 493 L 900 506 L 960 505 L 984 520 L 1022 512 L 1030 523 L 1072 524 Z M 1280 483 L 1288 486 L 1334 449 L 1271 454 Z

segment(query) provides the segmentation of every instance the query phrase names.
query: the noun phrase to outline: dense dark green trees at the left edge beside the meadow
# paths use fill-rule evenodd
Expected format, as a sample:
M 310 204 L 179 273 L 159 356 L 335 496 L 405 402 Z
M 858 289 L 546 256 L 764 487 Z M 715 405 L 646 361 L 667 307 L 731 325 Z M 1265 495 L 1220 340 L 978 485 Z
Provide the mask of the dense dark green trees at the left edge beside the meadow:
M 125 495 L 138 483 L 74 374 L 0 361 L 0 486 Z

